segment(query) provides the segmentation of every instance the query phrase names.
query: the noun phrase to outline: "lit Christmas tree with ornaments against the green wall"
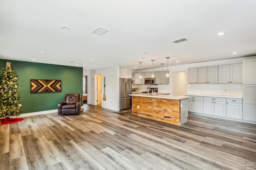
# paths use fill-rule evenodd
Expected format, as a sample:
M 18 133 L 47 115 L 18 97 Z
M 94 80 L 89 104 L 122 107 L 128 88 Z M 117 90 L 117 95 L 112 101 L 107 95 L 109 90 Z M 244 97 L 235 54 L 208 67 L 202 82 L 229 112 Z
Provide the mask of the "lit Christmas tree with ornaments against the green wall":
M 7 62 L 0 77 L 0 117 L 20 115 L 18 76 Z

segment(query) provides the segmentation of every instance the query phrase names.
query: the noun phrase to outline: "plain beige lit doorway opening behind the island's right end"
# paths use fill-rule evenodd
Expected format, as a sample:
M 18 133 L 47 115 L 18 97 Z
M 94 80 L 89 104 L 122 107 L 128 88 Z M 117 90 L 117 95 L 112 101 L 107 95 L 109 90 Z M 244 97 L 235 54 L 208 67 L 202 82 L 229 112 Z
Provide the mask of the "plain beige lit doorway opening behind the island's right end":
M 174 95 L 184 96 L 187 93 L 187 72 L 173 72 L 172 77 Z

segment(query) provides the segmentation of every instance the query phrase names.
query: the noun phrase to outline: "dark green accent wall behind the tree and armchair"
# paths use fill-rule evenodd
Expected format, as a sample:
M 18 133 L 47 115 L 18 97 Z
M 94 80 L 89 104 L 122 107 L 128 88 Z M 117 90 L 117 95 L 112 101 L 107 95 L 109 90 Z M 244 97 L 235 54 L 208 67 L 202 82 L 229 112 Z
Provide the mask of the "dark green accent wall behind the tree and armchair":
M 8 61 L 18 75 L 21 113 L 58 109 L 58 103 L 63 102 L 66 94 L 83 95 L 82 67 L 0 59 L 0 75 Z M 30 79 L 61 80 L 61 92 L 30 93 Z

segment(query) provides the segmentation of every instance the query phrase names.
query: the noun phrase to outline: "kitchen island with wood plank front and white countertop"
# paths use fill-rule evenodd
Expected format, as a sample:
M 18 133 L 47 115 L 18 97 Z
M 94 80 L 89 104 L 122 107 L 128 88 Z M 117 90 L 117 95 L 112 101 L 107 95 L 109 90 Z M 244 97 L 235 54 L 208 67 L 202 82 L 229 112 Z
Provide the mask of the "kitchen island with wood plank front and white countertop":
M 130 94 L 132 114 L 182 125 L 188 121 L 188 96 Z

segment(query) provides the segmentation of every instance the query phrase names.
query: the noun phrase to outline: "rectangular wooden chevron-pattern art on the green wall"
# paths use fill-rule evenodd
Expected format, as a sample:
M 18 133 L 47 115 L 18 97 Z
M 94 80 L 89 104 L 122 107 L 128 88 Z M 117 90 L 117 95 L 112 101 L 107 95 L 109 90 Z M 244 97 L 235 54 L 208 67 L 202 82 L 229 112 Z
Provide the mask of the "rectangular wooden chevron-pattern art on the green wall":
M 61 80 L 30 80 L 31 93 L 61 92 Z

